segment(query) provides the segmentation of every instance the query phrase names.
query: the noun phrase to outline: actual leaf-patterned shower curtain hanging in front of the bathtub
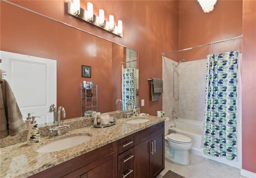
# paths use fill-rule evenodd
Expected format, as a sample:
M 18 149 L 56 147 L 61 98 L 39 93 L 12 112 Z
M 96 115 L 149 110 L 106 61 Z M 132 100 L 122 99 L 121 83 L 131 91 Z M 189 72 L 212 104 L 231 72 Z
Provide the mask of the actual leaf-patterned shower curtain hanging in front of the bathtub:
M 207 56 L 204 154 L 237 160 L 236 106 L 239 51 Z

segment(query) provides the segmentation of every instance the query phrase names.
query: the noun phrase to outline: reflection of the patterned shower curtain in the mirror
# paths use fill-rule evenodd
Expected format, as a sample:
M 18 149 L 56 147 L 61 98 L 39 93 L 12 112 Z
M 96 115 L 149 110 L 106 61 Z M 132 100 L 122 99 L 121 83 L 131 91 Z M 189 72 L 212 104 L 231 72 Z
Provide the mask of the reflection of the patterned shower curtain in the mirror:
M 122 70 L 122 101 L 123 110 L 127 110 L 127 102 L 132 100 L 136 103 L 135 99 L 135 84 L 134 84 L 134 68 L 126 68 Z M 131 108 L 134 108 L 133 104 Z

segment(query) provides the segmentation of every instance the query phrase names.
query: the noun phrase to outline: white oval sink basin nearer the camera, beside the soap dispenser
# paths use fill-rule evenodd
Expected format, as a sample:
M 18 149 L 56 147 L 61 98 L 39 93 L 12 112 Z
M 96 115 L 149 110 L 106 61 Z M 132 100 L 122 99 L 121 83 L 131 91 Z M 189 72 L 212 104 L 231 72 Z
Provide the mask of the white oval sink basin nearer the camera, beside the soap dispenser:
M 82 144 L 91 140 L 91 138 L 91 136 L 72 136 L 46 144 L 41 148 L 38 148 L 36 151 L 40 153 L 56 152 Z

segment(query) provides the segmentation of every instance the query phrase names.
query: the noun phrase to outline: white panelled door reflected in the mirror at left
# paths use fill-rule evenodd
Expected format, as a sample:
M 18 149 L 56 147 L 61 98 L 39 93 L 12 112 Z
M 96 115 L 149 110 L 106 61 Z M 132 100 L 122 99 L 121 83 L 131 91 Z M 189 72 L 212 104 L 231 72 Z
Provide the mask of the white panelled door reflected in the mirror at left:
M 0 51 L 1 70 L 6 71 L 8 81 L 23 119 L 28 113 L 36 118 L 39 125 L 53 122 L 50 105 L 57 100 L 56 60 Z

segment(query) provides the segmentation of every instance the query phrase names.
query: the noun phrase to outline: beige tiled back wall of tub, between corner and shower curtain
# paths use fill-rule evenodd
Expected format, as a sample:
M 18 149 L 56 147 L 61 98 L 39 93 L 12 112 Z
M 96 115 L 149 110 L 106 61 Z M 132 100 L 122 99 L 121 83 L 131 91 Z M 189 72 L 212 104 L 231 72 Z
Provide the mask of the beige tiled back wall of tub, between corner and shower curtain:
M 206 59 L 182 62 L 179 68 L 179 118 L 204 120 Z

